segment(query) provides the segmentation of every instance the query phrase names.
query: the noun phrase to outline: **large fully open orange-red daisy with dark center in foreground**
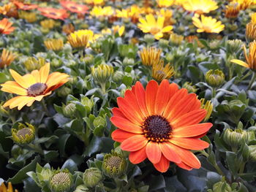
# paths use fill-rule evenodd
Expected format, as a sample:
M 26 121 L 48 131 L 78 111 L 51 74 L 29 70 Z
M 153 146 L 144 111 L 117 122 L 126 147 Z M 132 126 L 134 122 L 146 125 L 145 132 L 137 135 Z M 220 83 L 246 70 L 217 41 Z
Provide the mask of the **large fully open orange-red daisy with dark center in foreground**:
M 187 89 L 163 80 L 160 85 L 148 82 L 146 90 L 140 82 L 118 97 L 111 122 L 118 127 L 112 138 L 129 151 L 129 161 L 139 164 L 148 158 L 159 172 L 166 172 L 170 161 L 187 170 L 201 164 L 190 150 L 203 150 L 208 142 L 200 140 L 211 123 L 200 123 L 206 110 L 200 100 Z

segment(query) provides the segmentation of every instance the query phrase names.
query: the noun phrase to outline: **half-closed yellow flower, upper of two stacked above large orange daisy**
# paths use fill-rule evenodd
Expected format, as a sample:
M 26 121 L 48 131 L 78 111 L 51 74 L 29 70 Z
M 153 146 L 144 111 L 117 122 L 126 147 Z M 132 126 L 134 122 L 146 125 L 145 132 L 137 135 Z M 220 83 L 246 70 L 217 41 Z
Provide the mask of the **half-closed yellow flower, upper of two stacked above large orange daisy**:
M 159 63 L 162 50 L 157 47 L 143 47 L 138 53 L 143 65 L 153 66 Z

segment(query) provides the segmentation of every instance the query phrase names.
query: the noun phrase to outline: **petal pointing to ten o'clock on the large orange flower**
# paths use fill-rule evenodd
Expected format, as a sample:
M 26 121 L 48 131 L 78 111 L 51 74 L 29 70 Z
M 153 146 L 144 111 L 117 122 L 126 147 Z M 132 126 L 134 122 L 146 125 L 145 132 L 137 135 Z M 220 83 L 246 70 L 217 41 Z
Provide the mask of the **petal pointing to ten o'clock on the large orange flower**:
M 135 123 L 137 126 L 143 123 L 143 119 L 135 112 L 135 108 L 127 100 L 118 97 L 117 104 L 121 112 L 123 112 L 132 123 Z

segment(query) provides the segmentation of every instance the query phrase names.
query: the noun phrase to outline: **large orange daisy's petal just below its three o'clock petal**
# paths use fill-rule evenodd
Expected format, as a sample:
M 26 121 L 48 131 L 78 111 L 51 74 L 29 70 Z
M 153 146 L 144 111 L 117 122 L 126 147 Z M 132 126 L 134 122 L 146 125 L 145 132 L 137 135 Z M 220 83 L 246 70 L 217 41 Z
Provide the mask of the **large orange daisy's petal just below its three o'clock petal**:
M 188 150 L 203 150 L 209 147 L 208 142 L 193 138 L 173 137 L 172 139 L 170 139 L 170 142 L 173 143 L 174 145 L 177 145 Z

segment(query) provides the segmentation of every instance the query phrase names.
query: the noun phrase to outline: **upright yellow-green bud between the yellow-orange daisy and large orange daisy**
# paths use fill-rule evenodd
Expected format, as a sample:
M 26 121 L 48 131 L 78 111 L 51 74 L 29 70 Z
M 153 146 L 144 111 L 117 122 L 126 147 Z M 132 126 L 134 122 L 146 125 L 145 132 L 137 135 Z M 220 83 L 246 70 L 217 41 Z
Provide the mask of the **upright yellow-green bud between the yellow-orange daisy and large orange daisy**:
M 113 66 L 107 64 L 100 64 L 96 68 L 92 66 L 91 75 L 99 84 L 105 84 L 113 75 Z

